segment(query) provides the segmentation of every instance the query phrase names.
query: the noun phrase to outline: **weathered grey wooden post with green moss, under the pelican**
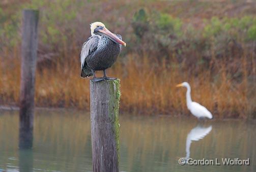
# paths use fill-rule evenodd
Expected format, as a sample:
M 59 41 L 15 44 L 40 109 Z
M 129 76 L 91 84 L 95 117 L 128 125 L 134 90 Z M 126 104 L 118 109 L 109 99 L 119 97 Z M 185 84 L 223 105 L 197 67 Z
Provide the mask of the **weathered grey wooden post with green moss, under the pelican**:
M 120 80 L 90 81 L 94 172 L 119 171 Z

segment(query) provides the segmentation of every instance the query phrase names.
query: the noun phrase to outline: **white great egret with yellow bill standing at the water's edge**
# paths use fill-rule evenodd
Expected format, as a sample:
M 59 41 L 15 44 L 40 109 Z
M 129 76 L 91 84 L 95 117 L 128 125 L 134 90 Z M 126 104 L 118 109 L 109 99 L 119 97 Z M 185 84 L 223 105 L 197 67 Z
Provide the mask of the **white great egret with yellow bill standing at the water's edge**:
M 205 107 L 198 104 L 197 102 L 194 102 L 191 100 L 191 88 L 190 85 L 187 82 L 183 82 L 181 84 L 176 85 L 176 87 L 186 87 L 187 93 L 186 93 L 186 99 L 187 99 L 187 107 L 189 111 L 197 118 L 203 118 L 207 117 L 212 119 L 212 114 L 209 112 Z

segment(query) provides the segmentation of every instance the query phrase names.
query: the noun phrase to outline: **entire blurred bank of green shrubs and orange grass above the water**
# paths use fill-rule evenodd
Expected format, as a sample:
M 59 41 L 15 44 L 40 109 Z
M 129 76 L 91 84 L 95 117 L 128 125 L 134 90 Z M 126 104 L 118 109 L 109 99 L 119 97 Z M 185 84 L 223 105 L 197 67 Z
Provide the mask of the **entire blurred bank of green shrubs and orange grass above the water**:
M 40 9 L 37 106 L 89 111 L 89 79 L 80 78 L 79 52 L 89 23 L 100 20 L 128 45 L 107 70 L 121 79 L 122 111 L 188 115 L 186 90 L 175 87 L 187 81 L 192 99 L 214 117 L 255 118 L 254 7 L 239 1 L 2 3 L 0 104 L 18 105 L 20 14 L 33 8 Z

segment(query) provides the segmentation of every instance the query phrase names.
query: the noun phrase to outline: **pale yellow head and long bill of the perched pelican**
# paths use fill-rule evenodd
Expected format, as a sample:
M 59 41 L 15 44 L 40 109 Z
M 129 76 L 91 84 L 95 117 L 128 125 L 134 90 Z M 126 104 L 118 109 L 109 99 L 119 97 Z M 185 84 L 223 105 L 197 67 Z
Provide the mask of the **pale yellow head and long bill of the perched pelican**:
M 96 21 L 91 24 L 91 34 L 92 36 L 99 35 L 99 36 L 106 36 L 113 42 L 117 44 L 121 44 L 123 46 L 126 46 L 126 43 L 119 39 L 115 34 L 113 34 L 111 31 L 109 31 L 106 26 L 99 21 Z

